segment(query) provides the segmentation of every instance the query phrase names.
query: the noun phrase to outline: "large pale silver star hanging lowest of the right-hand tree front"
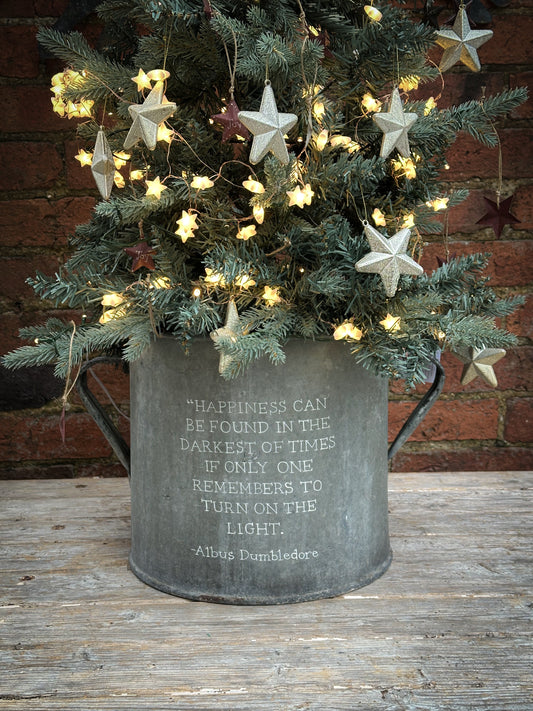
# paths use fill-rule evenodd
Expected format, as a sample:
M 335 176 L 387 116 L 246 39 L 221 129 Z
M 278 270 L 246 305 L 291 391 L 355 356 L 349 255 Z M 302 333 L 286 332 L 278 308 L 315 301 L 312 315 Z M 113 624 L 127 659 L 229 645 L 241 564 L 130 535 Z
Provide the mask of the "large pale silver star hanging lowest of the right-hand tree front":
M 360 259 L 355 268 L 358 272 L 379 274 L 387 296 L 394 296 L 401 274 L 418 276 L 424 271 L 406 254 L 411 230 L 405 227 L 392 237 L 384 237 L 368 222 L 365 223 L 365 237 L 372 251 Z

